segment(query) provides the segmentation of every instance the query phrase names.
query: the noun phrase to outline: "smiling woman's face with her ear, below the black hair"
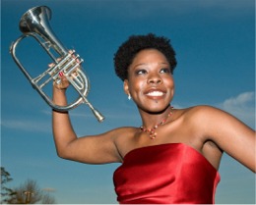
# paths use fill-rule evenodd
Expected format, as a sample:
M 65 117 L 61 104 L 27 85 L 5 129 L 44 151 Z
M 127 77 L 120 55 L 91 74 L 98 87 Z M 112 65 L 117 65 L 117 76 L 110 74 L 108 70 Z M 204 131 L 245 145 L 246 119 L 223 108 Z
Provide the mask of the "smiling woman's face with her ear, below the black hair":
M 124 90 L 141 110 L 165 109 L 174 94 L 174 81 L 165 56 L 156 49 L 140 51 L 128 68 Z

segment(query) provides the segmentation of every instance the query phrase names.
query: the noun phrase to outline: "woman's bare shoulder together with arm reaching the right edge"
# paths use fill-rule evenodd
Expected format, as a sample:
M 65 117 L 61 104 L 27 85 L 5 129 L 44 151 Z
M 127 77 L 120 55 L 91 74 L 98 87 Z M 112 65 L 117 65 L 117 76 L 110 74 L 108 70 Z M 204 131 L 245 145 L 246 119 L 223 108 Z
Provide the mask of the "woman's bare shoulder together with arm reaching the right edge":
M 182 119 L 182 126 L 203 144 L 214 143 L 255 172 L 255 130 L 231 114 L 212 106 L 200 105 L 176 111 L 177 116 Z M 211 156 L 207 157 L 210 161 L 213 159 Z

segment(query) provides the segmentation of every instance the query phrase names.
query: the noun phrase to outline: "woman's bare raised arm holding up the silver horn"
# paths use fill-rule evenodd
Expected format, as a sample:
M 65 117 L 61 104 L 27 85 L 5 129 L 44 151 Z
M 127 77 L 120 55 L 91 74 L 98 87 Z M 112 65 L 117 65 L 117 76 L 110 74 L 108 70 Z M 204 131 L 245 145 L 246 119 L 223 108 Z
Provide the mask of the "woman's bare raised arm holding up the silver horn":
M 53 86 L 53 102 L 60 106 L 67 104 L 65 89 Z M 115 130 L 78 138 L 72 128 L 68 112 L 57 111 L 52 111 L 52 130 L 56 150 L 61 158 L 89 164 L 120 161 L 114 143 L 117 134 Z

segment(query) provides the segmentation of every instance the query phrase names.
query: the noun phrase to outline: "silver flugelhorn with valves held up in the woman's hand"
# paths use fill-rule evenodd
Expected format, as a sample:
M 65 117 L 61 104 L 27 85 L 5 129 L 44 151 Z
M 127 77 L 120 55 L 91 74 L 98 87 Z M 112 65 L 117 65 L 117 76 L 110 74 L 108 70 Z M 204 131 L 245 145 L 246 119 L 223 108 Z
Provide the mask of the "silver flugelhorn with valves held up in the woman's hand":
M 102 122 L 104 117 L 93 107 L 88 101 L 87 95 L 90 89 L 90 82 L 86 74 L 82 71 L 81 64 L 83 59 L 79 55 L 75 54 L 73 50 L 70 52 L 56 37 L 49 20 L 51 19 L 51 10 L 46 6 L 34 7 L 25 13 L 20 21 L 20 30 L 23 32 L 16 41 L 14 41 L 10 47 L 10 53 L 18 67 L 23 74 L 32 83 L 32 87 L 41 95 L 46 103 L 54 110 L 60 112 L 66 112 L 73 108 L 76 108 L 82 103 L 87 104 L 98 122 Z M 25 70 L 24 66 L 16 56 L 16 47 L 26 37 L 33 37 L 47 52 L 50 58 L 55 62 L 54 66 L 48 68 L 42 74 L 31 77 L 31 75 Z M 55 51 L 55 55 L 51 52 Z M 55 57 L 58 54 L 58 57 Z M 61 60 L 59 60 L 61 59 Z M 58 106 L 47 96 L 42 90 L 43 87 L 50 81 L 60 82 L 59 73 L 62 72 L 73 85 L 78 92 L 79 97 L 73 103 L 66 106 Z M 45 79 L 46 78 L 46 79 Z

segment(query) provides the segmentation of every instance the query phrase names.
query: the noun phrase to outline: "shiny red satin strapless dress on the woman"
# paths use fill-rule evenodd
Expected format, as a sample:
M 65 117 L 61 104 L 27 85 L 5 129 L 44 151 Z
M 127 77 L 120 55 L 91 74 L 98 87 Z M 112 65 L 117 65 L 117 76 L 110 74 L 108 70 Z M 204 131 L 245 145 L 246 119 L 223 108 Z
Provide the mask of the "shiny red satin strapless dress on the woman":
M 220 179 L 201 153 L 183 143 L 134 149 L 113 175 L 120 204 L 214 204 Z

